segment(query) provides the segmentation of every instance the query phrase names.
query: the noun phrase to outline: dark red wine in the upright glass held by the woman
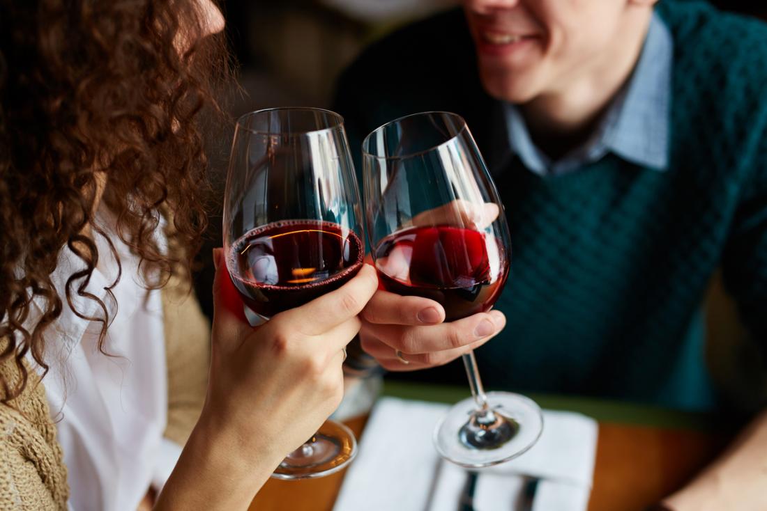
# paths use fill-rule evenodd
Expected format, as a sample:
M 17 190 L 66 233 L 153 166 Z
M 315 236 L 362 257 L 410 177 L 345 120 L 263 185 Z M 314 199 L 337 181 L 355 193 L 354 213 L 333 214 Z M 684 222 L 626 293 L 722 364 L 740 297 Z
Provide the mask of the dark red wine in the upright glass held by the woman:
M 326 221 L 279 221 L 232 244 L 229 275 L 242 300 L 267 318 L 336 290 L 362 267 L 360 237 Z

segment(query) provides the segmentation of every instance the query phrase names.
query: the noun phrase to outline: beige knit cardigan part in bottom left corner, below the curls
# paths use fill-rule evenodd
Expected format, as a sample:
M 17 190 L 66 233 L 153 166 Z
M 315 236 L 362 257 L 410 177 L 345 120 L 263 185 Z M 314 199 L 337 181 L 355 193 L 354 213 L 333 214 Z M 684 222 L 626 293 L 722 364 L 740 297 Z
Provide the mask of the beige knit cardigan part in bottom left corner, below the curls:
M 5 345 L 5 339 L 0 339 Z M 18 397 L 0 403 L 0 508 L 66 509 L 67 469 L 38 373 L 22 362 L 28 382 Z M 14 358 L 0 362 L 4 382 L 22 375 Z

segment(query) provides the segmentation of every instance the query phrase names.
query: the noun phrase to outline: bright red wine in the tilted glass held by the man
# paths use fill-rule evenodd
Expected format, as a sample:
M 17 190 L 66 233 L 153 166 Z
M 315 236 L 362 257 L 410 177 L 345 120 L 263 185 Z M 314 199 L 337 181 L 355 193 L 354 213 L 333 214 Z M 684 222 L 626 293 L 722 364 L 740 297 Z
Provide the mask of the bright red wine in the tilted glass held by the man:
M 490 310 L 509 274 L 495 237 L 449 225 L 399 231 L 384 237 L 374 253 L 384 289 L 439 302 L 446 321 Z

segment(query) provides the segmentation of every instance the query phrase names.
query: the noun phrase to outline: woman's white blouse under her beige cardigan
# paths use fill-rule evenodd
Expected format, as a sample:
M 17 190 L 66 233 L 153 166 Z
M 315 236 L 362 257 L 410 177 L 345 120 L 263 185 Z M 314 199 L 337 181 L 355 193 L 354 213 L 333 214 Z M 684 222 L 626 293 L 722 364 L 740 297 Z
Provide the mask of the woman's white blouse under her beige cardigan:
M 122 265 L 113 300 L 105 288 L 117 276 L 117 262 L 106 239 L 94 232 L 99 262 L 87 292 L 109 310 L 108 355 L 97 346 L 101 323 L 78 317 L 67 305 L 67 278 L 84 263 L 65 247 L 51 276 L 64 308 L 46 333 L 50 369 L 43 384 L 64 450 L 69 508 L 134 511 L 150 485 L 163 486 L 181 447 L 163 438 L 167 375 L 160 291 L 147 295 L 138 257 L 114 234 L 114 217 L 100 211 L 97 222 Z M 83 316 L 103 315 L 94 300 L 75 295 L 73 301 Z

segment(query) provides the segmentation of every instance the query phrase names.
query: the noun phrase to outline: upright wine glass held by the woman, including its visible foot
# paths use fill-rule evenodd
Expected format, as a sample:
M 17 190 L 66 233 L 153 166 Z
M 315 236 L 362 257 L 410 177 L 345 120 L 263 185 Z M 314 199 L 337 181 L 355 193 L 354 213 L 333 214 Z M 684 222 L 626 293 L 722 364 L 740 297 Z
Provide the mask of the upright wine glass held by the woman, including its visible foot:
M 254 326 L 354 277 L 364 257 L 362 213 L 343 118 L 316 108 L 240 117 L 223 217 L 226 267 Z M 325 421 L 272 477 L 322 477 L 356 454 L 354 434 Z

